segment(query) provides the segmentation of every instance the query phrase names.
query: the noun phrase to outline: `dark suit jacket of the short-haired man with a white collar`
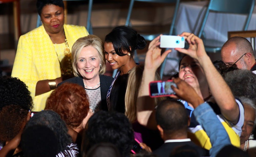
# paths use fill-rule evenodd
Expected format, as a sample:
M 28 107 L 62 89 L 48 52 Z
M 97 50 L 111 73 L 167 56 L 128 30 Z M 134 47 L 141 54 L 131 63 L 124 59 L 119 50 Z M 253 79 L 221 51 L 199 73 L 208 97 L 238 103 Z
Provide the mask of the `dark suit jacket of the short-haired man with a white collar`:
M 157 150 L 153 152 L 153 154 L 157 155 L 158 157 L 169 157 L 170 153 L 176 148 L 183 145 L 189 145 L 193 148 L 193 150 L 196 150 L 200 156 L 209 156 L 209 151 L 206 149 L 203 149 L 199 146 L 197 146 L 192 141 L 187 142 L 167 142 L 164 143 L 161 147 L 159 147 Z

